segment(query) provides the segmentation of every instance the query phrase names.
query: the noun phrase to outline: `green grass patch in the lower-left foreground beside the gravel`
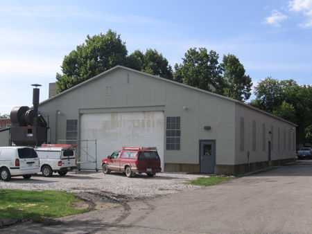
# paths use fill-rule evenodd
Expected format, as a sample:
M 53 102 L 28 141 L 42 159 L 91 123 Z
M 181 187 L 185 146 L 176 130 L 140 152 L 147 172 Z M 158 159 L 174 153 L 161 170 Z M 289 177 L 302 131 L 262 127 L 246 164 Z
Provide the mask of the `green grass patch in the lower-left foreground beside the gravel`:
M 0 219 L 53 219 L 83 213 L 73 208 L 79 201 L 64 191 L 0 190 Z

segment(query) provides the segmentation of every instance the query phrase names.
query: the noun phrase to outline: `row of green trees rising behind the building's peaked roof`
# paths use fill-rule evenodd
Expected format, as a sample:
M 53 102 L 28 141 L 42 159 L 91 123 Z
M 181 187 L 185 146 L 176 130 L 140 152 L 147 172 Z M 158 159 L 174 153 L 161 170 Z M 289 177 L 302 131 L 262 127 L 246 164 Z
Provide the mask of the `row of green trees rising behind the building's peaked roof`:
M 243 64 L 234 55 L 225 55 L 222 64 L 218 59 L 216 51 L 189 48 L 182 64 L 175 64 L 173 72 L 166 57 L 155 49 L 149 48 L 145 53 L 136 50 L 128 56 L 120 35 L 108 30 L 105 35 L 87 35 L 85 43 L 65 55 L 62 73 L 56 74 L 56 87 L 62 92 L 116 65 L 123 65 L 237 100 L 247 100 L 252 82 L 249 75 L 245 75 Z

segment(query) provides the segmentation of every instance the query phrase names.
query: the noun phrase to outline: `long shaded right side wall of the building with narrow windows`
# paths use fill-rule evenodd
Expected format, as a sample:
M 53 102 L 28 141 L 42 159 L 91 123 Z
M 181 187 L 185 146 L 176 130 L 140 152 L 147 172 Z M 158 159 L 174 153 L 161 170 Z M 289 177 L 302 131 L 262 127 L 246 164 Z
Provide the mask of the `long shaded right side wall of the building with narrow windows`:
M 243 149 L 241 148 L 241 118 L 244 122 Z M 268 161 L 268 141 L 271 143 L 271 161 L 295 159 L 295 126 L 291 123 L 238 103 L 235 108 L 235 123 L 236 165 Z

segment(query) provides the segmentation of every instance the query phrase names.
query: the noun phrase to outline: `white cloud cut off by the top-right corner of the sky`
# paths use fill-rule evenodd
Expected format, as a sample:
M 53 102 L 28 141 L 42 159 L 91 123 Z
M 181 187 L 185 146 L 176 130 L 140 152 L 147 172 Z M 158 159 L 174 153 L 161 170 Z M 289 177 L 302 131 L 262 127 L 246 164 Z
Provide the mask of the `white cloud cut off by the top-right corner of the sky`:
M 306 22 L 300 24 L 303 28 L 312 26 L 312 0 L 292 0 L 288 2 L 289 10 L 302 12 L 306 16 Z

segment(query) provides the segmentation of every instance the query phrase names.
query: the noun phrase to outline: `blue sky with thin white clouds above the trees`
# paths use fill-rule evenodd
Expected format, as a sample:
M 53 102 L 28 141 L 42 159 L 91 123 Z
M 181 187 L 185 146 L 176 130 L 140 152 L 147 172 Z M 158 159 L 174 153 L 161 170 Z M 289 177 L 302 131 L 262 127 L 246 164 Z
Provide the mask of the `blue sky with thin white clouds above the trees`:
M 0 113 L 48 98 L 64 55 L 115 30 L 128 54 L 155 48 L 171 66 L 189 48 L 239 57 L 254 84 L 268 76 L 312 84 L 312 0 L 1 1 Z

